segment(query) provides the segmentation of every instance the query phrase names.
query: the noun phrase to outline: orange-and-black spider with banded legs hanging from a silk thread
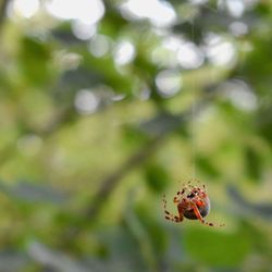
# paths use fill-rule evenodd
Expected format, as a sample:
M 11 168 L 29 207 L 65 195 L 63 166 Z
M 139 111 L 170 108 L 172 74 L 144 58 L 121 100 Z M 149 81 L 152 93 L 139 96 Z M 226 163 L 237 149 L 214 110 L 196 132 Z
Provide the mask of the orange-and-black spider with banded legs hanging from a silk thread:
M 165 195 L 163 196 L 164 217 L 173 222 L 182 222 L 184 218 L 199 220 L 202 224 L 209 226 L 224 226 L 224 224 L 213 224 L 203 220 L 210 211 L 210 199 L 207 195 L 206 186 L 193 186 L 191 181 L 187 183 L 174 197 L 174 203 L 177 206 L 178 217 L 166 210 Z

